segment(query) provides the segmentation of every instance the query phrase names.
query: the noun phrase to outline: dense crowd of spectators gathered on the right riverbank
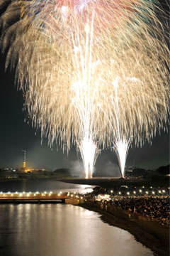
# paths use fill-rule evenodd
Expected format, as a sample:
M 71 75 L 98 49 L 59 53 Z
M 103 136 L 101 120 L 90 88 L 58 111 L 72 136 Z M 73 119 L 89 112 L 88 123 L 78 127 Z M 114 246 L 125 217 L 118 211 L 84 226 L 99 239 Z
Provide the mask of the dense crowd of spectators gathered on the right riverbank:
M 119 189 L 120 191 L 120 189 Z M 132 190 L 131 190 L 132 191 Z M 164 195 L 137 195 L 127 192 L 118 195 L 108 191 L 106 188 L 96 188 L 94 193 L 89 194 L 89 200 L 96 201 L 96 195 L 98 193 L 107 194 L 110 193 L 110 200 L 101 200 L 98 203 L 103 210 L 111 210 L 112 208 L 118 208 L 128 211 L 130 215 L 142 215 L 151 220 L 157 220 L 162 225 L 169 225 L 170 209 L 169 209 L 169 193 L 166 190 Z M 118 191 L 117 191 L 118 192 Z

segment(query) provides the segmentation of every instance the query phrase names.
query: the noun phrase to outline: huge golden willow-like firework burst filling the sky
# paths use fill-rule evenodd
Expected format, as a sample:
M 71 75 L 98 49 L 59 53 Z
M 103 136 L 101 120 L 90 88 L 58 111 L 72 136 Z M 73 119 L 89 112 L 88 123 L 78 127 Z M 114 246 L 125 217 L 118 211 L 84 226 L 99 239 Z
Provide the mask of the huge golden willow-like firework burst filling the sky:
M 15 9 L 21 19 L 8 26 Z M 1 17 L 6 65 L 17 63 L 33 125 L 50 145 L 77 142 L 86 170 L 95 142 L 123 142 L 124 174 L 128 138 L 142 146 L 166 127 L 169 50 L 154 10 L 151 1 L 12 1 Z

